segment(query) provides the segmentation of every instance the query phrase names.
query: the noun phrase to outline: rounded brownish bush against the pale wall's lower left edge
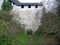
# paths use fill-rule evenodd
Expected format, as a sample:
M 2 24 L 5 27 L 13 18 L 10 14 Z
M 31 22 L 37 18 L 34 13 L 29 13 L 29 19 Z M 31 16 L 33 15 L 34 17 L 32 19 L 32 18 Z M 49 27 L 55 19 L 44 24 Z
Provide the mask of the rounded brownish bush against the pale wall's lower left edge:
M 11 34 L 18 34 L 24 32 L 24 25 L 17 24 L 15 21 L 8 24 L 9 32 Z

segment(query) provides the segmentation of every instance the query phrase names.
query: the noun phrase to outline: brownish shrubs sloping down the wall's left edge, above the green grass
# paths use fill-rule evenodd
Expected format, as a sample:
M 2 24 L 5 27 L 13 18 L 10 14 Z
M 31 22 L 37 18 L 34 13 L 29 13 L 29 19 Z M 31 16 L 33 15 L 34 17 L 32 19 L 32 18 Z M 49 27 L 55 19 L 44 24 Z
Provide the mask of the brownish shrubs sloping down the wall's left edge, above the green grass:
M 23 32 L 24 25 L 17 23 L 15 20 L 13 20 L 13 15 L 14 14 L 10 14 L 10 12 L 7 13 L 7 11 L 0 11 L 0 20 L 8 22 L 7 28 L 11 34 Z

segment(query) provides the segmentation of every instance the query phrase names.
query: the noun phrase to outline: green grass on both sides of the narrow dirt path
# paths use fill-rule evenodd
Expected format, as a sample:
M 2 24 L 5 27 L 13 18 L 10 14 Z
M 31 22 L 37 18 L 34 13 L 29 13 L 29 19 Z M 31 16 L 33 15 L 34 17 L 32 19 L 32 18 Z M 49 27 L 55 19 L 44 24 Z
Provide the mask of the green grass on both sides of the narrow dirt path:
M 12 35 L 9 33 L 7 26 L 7 22 L 5 22 L 4 20 L 0 20 L 0 35 L 2 35 L 2 37 L 0 37 L 0 45 L 28 45 L 28 35 L 23 32 Z M 42 37 L 43 34 L 40 34 L 40 36 L 34 34 L 32 36 L 32 45 L 40 45 Z

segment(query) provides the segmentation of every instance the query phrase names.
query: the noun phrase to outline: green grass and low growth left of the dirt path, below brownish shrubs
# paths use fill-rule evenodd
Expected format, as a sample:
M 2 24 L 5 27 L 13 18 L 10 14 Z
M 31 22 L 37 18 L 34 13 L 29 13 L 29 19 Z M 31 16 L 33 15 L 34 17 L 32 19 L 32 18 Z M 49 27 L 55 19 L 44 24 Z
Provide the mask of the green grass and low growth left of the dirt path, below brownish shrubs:
M 20 32 L 19 34 L 10 34 L 7 29 L 7 23 L 0 20 L 0 45 L 28 45 L 29 36 Z

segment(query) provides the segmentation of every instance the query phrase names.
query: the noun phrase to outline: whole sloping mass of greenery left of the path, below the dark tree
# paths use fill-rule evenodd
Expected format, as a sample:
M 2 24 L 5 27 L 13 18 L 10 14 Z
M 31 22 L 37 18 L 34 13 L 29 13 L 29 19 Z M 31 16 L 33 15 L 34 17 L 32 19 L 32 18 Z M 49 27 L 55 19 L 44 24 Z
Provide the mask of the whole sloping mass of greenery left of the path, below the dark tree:
M 23 33 L 23 26 L 12 18 L 9 12 L 0 11 L 0 45 L 28 45 L 29 37 Z

